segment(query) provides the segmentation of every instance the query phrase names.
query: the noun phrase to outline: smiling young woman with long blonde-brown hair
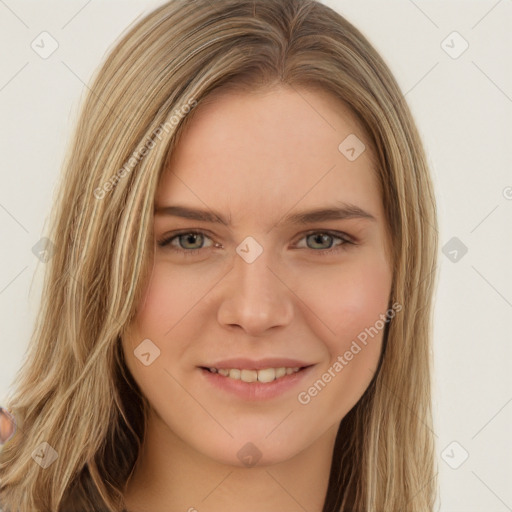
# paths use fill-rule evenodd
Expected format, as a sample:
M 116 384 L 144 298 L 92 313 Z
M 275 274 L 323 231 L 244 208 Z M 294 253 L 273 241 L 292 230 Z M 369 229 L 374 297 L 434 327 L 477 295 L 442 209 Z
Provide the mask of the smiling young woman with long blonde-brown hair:
M 175 0 L 91 90 L 4 512 L 432 511 L 435 200 L 375 49 L 316 1 Z

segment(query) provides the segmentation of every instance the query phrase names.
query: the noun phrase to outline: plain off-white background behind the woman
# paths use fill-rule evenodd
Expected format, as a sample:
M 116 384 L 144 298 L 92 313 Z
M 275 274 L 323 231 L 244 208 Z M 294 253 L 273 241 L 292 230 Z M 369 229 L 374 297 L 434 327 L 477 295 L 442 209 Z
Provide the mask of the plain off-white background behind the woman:
M 0 404 L 28 346 L 44 271 L 32 247 L 46 234 L 86 84 L 161 3 L 0 0 Z M 394 72 L 432 168 L 440 510 L 512 511 L 512 1 L 324 3 Z M 43 31 L 59 44 L 47 59 L 31 48 Z

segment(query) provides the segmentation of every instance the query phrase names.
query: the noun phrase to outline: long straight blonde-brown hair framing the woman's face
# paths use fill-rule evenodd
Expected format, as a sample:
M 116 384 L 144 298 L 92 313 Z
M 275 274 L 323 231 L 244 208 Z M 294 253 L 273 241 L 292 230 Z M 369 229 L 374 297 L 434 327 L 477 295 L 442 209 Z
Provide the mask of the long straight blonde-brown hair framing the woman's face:
M 437 213 L 399 86 L 362 33 L 317 1 L 172 0 L 121 36 L 81 106 L 50 219 L 54 253 L 8 404 L 19 428 L 0 452 L 4 512 L 123 509 L 149 403 L 120 341 L 148 278 L 160 176 L 213 91 L 279 86 L 332 94 L 366 134 L 392 237 L 391 300 L 403 306 L 340 423 L 323 512 L 433 510 Z M 58 455 L 46 468 L 32 457 L 43 442 Z

